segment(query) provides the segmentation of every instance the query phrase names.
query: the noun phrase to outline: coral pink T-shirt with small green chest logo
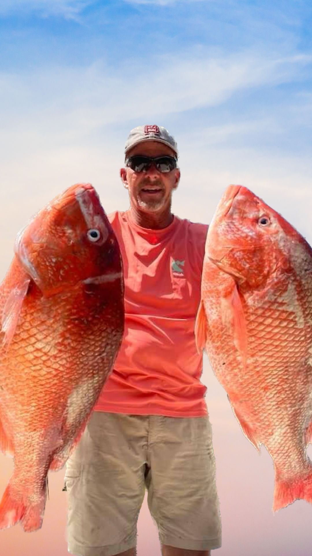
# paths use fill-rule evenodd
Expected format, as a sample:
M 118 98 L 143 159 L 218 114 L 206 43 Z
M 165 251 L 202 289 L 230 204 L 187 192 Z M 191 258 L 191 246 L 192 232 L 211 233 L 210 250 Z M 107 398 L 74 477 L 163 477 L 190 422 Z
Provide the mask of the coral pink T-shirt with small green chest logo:
M 125 281 L 125 331 L 95 411 L 197 417 L 207 414 L 203 357 L 194 324 L 208 226 L 174 216 L 162 230 L 113 212 Z

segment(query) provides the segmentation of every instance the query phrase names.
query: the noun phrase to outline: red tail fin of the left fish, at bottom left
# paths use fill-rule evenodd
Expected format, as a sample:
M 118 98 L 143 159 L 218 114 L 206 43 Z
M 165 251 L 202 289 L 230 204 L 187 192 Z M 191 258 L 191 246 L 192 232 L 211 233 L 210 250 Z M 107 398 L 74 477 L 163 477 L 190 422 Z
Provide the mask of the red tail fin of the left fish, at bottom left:
M 27 499 L 12 489 L 10 481 L 0 503 L 0 529 L 12 527 L 18 522 L 22 522 L 22 527 L 27 532 L 40 529 L 45 506 L 46 485 L 41 500 L 37 504 L 27 504 Z

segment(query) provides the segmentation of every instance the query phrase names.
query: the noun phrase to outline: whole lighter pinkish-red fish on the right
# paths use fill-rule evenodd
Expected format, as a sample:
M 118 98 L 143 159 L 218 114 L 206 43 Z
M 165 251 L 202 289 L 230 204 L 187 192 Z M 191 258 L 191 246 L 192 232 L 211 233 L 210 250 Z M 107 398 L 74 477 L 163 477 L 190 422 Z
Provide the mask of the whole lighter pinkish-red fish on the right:
M 195 334 L 273 459 L 273 510 L 312 502 L 312 250 L 246 187 L 228 187 L 209 226 Z

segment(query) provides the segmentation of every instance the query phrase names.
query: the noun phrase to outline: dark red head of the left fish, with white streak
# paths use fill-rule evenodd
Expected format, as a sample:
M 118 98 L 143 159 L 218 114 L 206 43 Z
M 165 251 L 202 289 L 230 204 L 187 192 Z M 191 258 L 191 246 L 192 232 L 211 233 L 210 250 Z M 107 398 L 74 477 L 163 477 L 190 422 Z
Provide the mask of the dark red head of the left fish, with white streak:
M 89 183 L 69 187 L 34 215 L 14 251 L 46 296 L 122 276 L 117 239 Z

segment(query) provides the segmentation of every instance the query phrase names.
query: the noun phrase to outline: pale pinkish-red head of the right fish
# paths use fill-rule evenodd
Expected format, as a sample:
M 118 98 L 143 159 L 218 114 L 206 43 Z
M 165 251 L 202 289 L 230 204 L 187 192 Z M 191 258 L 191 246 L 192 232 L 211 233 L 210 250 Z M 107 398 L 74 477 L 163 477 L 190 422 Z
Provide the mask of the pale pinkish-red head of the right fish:
M 230 185 L 209 226 L 206 254 L 238 282 L 258 287 L 279 269 L 291 272 L 291 250 L 305 240 L 248 188 Z

